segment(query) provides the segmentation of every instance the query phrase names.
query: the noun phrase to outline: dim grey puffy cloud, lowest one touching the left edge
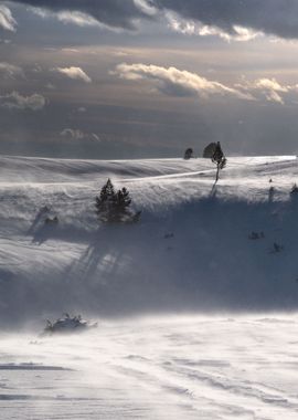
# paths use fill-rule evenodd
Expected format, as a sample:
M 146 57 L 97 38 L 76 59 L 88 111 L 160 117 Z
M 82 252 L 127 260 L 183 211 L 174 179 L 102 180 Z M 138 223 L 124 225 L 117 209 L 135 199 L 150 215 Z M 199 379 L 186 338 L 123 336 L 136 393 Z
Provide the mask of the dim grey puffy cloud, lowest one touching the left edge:
M 0 95 L 0 106 L 8 109 L 40 111 L 44 105 L 45 98 L 38 93 L 34 93 L 31 96 L 22 96 L 14 91 L 8 95 Z

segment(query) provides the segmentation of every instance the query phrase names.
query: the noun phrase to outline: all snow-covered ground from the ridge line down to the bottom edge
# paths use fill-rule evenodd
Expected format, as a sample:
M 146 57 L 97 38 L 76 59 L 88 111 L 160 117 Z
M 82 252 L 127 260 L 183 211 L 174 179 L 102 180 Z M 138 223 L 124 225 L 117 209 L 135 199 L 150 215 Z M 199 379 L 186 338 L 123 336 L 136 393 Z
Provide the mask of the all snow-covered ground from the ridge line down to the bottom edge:
M 207 159 L 0 172 L 0 420 L 298 418 L 296 157 L 228 158 L 215 188 Z M 97 222 L 108 177 L 139 223 Z M 98 328 L 39 337 L 63 312 Z

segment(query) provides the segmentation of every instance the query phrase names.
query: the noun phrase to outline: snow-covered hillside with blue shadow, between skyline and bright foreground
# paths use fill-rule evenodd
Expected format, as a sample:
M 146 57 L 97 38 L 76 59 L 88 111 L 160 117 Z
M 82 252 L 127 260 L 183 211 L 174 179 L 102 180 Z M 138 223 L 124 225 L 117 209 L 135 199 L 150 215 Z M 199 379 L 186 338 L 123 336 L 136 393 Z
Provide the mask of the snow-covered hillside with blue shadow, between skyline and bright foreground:
M 64 311 L 296 309 L 296 157 L 228 158 L 216 188 L 214 176 L 209 159 L 1 157 L 1 324 Z M 139 223 L 97 222 L 108 177 L 129 189 Z

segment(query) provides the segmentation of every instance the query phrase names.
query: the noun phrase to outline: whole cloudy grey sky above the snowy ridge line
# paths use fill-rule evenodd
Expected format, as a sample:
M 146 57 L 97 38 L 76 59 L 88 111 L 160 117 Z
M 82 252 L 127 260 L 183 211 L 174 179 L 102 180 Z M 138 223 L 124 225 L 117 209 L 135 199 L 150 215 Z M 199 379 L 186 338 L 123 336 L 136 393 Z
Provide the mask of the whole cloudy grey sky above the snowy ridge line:
M 0 1 L 0 153 L 298 153 L 297 0 Z

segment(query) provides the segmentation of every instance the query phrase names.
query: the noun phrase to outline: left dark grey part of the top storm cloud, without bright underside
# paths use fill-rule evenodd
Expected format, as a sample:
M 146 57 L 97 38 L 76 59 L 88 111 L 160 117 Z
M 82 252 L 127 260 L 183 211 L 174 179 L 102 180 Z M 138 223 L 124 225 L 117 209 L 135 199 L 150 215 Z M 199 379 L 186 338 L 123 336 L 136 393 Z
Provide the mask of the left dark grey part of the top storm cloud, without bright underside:
M 75 11 L 88 14 L 113 28 L 134 29 L 134 20 L 149 18 L 143 0 L 11 0 L 54 12 Z

